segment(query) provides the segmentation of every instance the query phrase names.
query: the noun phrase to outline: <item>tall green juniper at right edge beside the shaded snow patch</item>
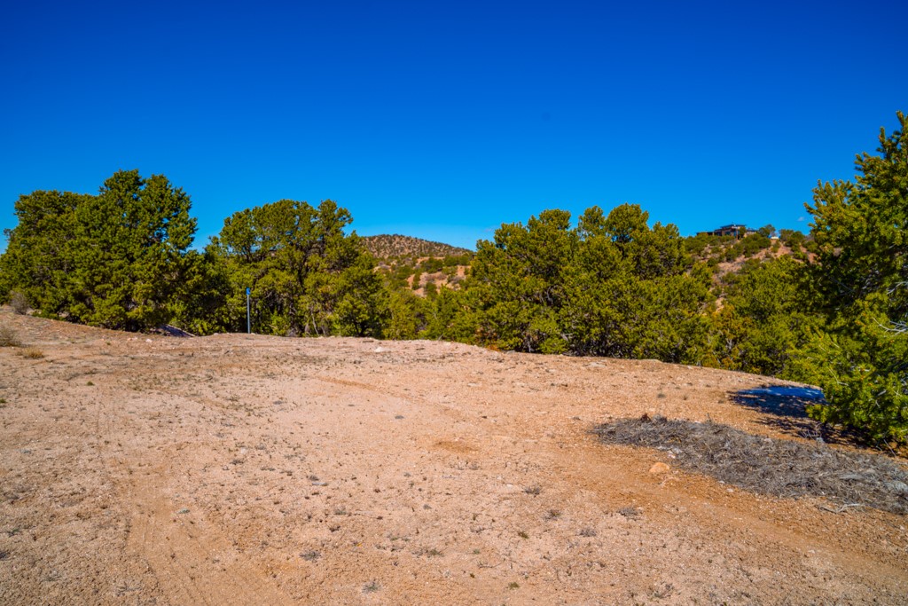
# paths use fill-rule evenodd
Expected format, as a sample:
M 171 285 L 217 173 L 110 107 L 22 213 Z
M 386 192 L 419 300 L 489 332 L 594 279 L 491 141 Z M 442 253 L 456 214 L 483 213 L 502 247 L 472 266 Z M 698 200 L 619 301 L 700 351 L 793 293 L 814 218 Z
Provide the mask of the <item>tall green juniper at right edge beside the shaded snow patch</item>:
M 879 440 L 908 440 L 908 119 L 880 129 L 878 155 L 859 154 L 854 183 L 814 190 L 812 266 L 827 333 L 808 351 L 807 378 L 828 405 L 814 417 Z

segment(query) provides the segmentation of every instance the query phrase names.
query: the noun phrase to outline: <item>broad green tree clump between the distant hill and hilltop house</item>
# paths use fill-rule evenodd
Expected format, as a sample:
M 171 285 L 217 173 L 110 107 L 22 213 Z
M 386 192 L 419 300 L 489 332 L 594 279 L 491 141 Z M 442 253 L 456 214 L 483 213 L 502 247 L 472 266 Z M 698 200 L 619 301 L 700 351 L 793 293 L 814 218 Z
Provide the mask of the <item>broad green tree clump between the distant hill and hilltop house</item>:
M 468 283 L 475 341 L 502 349 L 698 362 L 706 346 L 705 273 L 674 225 L 636 204 L 592 207 L 571 227 L 550 210 L 479 242 Z

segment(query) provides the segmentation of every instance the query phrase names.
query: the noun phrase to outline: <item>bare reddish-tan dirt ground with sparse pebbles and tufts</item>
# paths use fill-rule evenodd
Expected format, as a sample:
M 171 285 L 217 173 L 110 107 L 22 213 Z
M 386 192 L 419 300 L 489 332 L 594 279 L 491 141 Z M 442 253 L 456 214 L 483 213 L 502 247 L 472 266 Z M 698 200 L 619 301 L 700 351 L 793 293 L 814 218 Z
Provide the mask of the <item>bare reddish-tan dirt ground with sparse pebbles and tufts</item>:
M 0 324 L 24 342 L 0 348 L 0 604 L 908 603 L 905 517 L 591 433 L 648 412 L 806 439 L 741 397 L 765 377 Z

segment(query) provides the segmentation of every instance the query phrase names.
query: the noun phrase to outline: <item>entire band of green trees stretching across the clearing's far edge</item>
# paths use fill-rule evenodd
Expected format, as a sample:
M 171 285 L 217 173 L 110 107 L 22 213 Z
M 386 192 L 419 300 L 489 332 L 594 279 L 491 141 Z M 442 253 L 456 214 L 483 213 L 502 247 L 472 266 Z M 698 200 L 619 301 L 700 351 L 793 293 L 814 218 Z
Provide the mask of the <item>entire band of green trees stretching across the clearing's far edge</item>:
M 163 175 L 119 172 L 97 195 L 35 192 L 0 256 L 0 299 L 126 330 L 430 338 L 533 353 L 656 358 L 819 384 L 811 414 L 908 440 L 906 121 L 857 157 L 854 183 L 819 184 L 808 236 L 683 238 L 636 204 L 576 223 L 547 210 L 503 224 L 471 259 L 387 265 L 350 213 L 281 200 L 243 210 L 201 252 L 190 199 Z M 790 254 L 780 255 L 785 244 Z M 742 261 L 744 260 L 744 261 Z M 469 263 L 457 289 L 419 274 Z M 725 269 L 723 269 L 725 267 Z M 732 267 L 733 269 L 728 269 Z M 412 273 L 408 273 L 412 272 Z M 413 273 L 416 273 L 414 275 Z

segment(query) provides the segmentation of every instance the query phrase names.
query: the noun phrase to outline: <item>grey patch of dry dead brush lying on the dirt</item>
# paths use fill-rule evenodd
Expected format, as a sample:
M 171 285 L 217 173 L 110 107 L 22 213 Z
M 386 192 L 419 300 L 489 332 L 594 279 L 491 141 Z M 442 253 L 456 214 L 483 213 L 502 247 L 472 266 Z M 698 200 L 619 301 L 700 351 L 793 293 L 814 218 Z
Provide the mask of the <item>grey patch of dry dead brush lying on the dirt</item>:
M 755 436 L 727 425 L 643 415 L 597 426 L 607 443 L 674 452 L 680 468 L 777 497 L 820 496 L 908 513 L 908 472 L 882 455 Z

